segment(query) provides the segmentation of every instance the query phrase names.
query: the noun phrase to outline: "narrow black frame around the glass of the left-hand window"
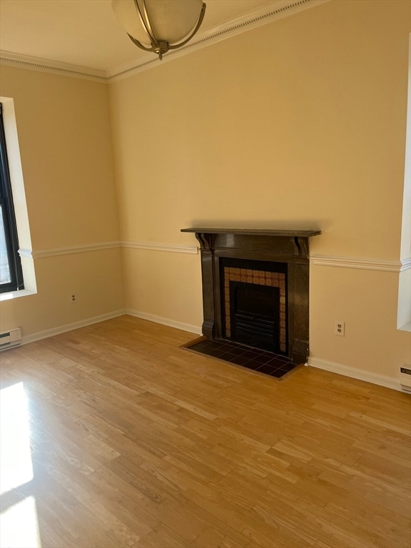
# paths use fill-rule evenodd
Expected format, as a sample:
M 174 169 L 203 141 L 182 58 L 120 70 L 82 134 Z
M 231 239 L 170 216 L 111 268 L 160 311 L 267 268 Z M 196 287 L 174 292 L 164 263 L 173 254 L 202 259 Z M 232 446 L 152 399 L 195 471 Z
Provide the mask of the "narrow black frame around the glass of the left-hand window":
M 21 258 L 19 255 L 19 235 L 17 233 L 16 213 L 14 210 L 13 193 L 11 191 L 3 110 L 3 104 L 0 103 L 0 206 L 4 212 L 4 234 L 6 237 L 11 281 L 9 283 L 0 283 L 0 294 L 24 289 L 23 269 L 21 268 Z

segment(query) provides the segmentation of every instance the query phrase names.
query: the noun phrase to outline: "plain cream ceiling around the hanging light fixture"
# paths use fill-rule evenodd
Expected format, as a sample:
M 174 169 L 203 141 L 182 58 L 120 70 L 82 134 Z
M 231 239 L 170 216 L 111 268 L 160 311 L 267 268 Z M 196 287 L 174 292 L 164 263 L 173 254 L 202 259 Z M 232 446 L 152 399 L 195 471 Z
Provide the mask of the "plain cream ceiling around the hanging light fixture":
M 283 0 L 205 0 L 201 33 Z M 98 71 L 147 55 L 118 24 L 111 0 L 0 0 L 0 50 Z

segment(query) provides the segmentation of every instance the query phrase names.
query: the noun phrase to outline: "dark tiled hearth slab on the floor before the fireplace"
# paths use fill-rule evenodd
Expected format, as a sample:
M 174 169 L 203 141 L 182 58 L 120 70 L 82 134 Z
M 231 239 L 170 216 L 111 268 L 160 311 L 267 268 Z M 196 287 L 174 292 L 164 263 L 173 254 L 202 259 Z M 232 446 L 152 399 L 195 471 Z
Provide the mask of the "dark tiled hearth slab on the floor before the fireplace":
M 219 360 L 242 365 L 280 379 L 283 375 L 297 367 L 288 357 L 258 350 L 248 346 L 238 345 L 228 340 L 203 339 L 185 345 L 188 350 L 199 352 L 206 356 L 218 357 Z

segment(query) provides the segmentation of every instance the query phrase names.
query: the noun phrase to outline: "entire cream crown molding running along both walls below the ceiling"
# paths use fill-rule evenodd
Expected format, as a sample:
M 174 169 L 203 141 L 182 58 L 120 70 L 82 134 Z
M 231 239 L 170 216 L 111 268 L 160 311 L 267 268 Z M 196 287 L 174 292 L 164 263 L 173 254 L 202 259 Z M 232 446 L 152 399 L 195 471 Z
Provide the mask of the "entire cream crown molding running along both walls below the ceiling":
M 305 9 L 325 4 L 330 0 L 279 0 L 269 4 L 262 9 L 255 10 L 249 14 L 232 19 L 225 24 L 214 26 L 212 29 L 199 33 L 196 38 L 180 49 L 168 51 L 163 56 L 161 64 L 178 59 L 183 55 L 202 49 L 211 44 L 216 44 L 222 40 L 231 38 L 245 31 L 255 29 L 276 19 L 282 19 L 303 11 Z M 111 83 L 113 81 L 128 78 L 148 68 L 160 66 L 160 61 L 153 54 L 143 54 L 140 60 L 131 61 L 110 68 L 107 71 L 101 71 L 96 68 L 53 61 L 51 59 L 41 59 L 28 55 L 14 54 L 11 51 L 0 50 L 0 65 L 14 66 L 16 68 L 26 68 L 33 71 L 49 72 L 59 74 L 60 76 L 71 76 L 72 78 L 83 78 L 85 80 Z

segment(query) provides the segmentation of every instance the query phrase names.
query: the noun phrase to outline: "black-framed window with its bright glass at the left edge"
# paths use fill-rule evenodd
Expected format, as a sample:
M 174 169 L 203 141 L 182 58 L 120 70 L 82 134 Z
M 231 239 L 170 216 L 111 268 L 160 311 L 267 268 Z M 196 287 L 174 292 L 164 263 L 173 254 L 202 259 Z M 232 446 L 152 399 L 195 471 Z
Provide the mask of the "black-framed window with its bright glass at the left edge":
M 11 194 L 2 103 L 0 103 L 0 179 L 0 293 L 5 293 L 23 289 L 24 283 Z

